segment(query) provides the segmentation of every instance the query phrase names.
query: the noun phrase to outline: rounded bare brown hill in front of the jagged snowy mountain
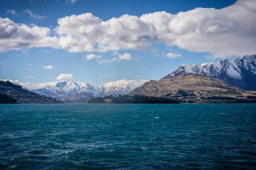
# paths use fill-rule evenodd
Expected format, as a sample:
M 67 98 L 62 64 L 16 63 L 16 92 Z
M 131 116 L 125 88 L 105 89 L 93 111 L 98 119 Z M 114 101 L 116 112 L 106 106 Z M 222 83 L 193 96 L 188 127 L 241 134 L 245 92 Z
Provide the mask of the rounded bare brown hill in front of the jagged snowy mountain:
M 135 88 L 129 95 L 189 97 L 200 98 L 210 96 L 228 96 L 246 98 L 255 96 L 253 91 L 243 91 L 220 79 L 202 74 L 186 73 L 173 79 L 151 80 Z

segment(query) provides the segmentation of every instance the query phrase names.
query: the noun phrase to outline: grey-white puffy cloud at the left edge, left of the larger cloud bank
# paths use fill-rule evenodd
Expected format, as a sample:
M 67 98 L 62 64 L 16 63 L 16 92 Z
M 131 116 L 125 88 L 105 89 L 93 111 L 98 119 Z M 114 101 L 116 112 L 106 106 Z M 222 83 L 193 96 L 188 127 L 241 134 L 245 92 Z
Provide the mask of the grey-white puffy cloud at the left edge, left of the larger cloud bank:
M 47 27 L 17 24 L 9 18 L 0 17 L 0 51 L 54 47 L 58 38 L 50 37 L 50 33 Z

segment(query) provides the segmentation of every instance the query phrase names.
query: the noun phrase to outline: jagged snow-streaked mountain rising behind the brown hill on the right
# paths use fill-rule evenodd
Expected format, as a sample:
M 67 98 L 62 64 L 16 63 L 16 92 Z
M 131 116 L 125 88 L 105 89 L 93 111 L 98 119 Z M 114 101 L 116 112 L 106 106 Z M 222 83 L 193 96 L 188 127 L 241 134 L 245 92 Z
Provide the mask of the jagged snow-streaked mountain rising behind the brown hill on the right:
M 256 55 L 224 59 L 220 62 L 181 65 L 162 79 L 173 79 L 185 73 L 204 74 L 244 90 L 256 90 Z

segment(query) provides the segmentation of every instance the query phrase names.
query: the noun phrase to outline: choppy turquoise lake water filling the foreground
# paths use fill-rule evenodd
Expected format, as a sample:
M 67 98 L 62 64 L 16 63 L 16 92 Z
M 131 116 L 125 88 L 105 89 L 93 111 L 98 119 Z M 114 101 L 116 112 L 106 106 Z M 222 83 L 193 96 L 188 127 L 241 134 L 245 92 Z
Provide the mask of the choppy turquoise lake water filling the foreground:
M 255 169 L 256 104 L 0 105 L 0 169 Z

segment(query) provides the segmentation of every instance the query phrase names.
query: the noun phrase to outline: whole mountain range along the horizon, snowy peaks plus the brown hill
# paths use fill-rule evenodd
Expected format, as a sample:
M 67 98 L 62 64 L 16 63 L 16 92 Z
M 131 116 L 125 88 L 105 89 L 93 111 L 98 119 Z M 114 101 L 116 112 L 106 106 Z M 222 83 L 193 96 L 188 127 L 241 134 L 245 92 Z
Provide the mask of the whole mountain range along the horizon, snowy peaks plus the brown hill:
M 172 81 L 175 77 L 180 77 L 187 73 L 195 73 L 197 76 L 188 74 L 186 77 L 183 77 L 184 79 L 186 78 L 187 81 L 180 78 L 176 81 Z M 205 77 L 200 79 L 200 76 L 198 76 L 200 74 L 205 75 Z M 197 80 L 195 83 L 193 83 L 193 78 Z M 47 83 L 25 83 L 17 80 L 9 81 L 16 85 L 22 85 L 23 88 L 37 94 L 51 96 L 55 99 L 79 102 L 87 102 L 91 98 L 103 97 L 111 94 L 165 96 L 166 94 L 177 94 L 177 91 L 180 89 L 183 89 L 188 93 L 191 90 L 197 91 L 201 96 L 211 96 L 212 94 L 218 94 L 218 96 L 224 94 L 227 96 L 227 92 L 222 92 L 229 89 L 231 91 L 236 91 L 233 93 L 234 95 L 232 94 L 233 97 L 236 97 L 239 95 L 241 96 L 242 89 L 256 90 L 256 55 L 246 55 L 236 59 L 224 59 L 220 62 L 181 65 L 177 70 L 166 75 L 162 79 L 158 81 L 151 80 L 136 89 L 131 86 L 95 86 L 84 82 L 73 82 L 70 80 Z M 200 81 L 206 82 L 201 84 Z M 180 84 L 180 82 L 182 83 Z M 212 88 L 213 85 L 215 88 Z M 222 87 L 220 85 L 224 86 Z M 220 94 L 217 93 L 220 91 L 222 91 Z

